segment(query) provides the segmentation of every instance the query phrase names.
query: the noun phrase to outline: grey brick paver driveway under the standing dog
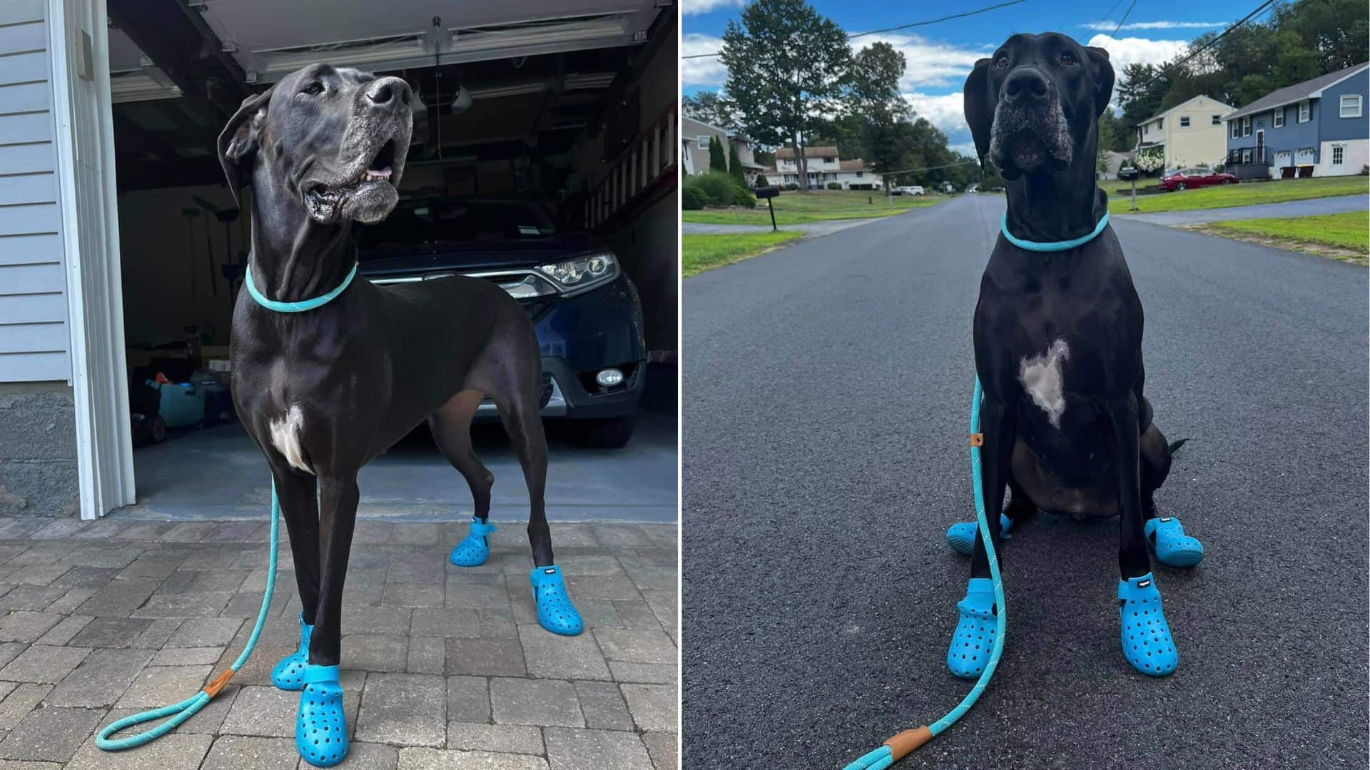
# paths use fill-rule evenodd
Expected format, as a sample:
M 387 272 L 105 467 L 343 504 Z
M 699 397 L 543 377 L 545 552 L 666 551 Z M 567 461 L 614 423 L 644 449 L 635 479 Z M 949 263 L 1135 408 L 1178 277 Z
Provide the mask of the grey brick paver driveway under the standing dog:
M 674 770 L 675 526 L 556 527 L 577 637 L 537 625 L 522 527 L 460 570 L 445 558 L 462 527 L 358 527 L 341 663 L 352 752 L 338 767 Z M 237 658 L 266 540 L 264 522 L 0 518 L 0 769 L 308 770 L 299 693 L 270 682 L 299 638 L 284 543 L 260 643 L 223 692 L 148 745 L 95 747 L 101 726 L 189 697 Z

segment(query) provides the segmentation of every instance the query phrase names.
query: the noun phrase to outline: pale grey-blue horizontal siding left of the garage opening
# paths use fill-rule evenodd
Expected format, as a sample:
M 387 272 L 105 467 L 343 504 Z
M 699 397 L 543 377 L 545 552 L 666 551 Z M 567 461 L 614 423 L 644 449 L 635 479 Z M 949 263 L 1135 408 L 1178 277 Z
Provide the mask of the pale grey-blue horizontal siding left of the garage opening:
M 71 378 L 44 14 L 0 1 L 0 382 Z

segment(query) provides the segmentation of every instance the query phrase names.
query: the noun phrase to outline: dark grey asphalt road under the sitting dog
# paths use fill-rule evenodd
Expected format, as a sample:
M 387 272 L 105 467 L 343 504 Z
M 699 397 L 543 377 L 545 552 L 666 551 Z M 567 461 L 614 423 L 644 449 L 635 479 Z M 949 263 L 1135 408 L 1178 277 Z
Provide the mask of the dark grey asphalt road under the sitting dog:
M 684 767 L 841 769 L 969 691 L 970 327 L 1004 206 L 966 196 L 685 281 Z M 1367 271 L 1114 219 L 1147 392 L 1188 437 L 1158 503 L 1180 669 L 1123 660 L 1117 519 L 1007 543 L 980 704 L 896 770 L 1363 769 Z

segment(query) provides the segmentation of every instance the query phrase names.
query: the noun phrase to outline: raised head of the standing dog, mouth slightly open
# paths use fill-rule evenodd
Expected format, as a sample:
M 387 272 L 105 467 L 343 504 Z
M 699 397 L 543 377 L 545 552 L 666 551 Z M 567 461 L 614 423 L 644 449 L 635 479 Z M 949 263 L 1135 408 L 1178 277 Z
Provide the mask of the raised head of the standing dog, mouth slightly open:
M 219 134 L 234 200 L 252 179 L 279 185 L 322 225 L 385 219 L 410 149 L 410 101 L 400 78 L 329 64 L 290 73 L 242 100 Z

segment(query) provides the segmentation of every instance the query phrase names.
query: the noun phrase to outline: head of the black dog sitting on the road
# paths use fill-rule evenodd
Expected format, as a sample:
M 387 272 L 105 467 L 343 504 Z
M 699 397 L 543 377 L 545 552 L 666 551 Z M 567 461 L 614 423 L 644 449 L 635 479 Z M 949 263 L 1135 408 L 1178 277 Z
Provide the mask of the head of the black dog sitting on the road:
M 1069 166 L 1108 107 L 1112 84 L 1103 48 L 1054 32 L 1015 34 L 966 78 L 975 152 L 988 155 L 1007 179 Z

